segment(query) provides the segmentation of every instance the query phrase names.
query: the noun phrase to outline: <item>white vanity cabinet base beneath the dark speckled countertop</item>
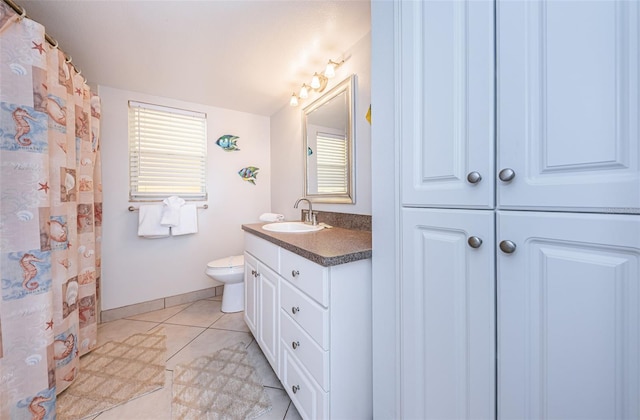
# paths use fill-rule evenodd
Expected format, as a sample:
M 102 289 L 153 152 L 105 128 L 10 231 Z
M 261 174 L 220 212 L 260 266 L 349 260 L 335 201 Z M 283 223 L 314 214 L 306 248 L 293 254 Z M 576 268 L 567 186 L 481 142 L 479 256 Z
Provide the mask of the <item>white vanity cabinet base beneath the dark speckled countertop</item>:
M 371 260 L 325 267 L 245 233 L 245 264 L 245 320 L 300 415 L 371 418 Z

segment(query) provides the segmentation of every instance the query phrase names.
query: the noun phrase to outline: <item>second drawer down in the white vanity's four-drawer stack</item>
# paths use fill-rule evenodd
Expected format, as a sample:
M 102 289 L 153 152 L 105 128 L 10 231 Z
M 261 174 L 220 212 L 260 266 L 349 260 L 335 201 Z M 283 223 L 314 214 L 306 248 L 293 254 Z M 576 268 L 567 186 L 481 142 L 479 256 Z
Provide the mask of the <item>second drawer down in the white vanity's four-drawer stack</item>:
M 329 350 L 329 310 L 286 281 L 280 282 L 280 307 L 324 350 Z

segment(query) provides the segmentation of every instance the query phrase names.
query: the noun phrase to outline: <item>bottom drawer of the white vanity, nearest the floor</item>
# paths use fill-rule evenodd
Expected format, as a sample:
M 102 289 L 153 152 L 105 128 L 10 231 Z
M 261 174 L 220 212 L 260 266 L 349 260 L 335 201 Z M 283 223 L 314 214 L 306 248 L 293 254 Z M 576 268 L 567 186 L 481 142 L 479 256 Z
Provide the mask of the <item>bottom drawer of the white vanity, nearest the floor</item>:
M 303 419 L 329 418 L 329 395 L 288 349 L 282 350 L 282 383 Z

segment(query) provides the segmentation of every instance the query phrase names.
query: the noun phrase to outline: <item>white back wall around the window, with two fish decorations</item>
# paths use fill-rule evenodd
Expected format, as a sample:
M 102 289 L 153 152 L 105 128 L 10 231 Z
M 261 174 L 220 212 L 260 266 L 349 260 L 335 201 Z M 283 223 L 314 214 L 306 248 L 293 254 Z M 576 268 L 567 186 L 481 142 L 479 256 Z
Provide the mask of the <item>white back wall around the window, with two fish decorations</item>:
M 204 274 L 207 262 L 241 254 L 241 225 L 256 222 L 261 213 L 271 211 L 269 118 L 107 86 L 99 86 L 98 93 L 102 100 L 104 194 L 102 310 L 219 285 Z M 198 210 L 199 233 L 165 239 L 137 236 L 138 212 L 127 210 L 131 205 L 129 100 L 207 114 L 209 208 Z M 223 134 L 239 136 L 241 151 L 225 152 L 217 146 L 215 142 Z M 245 166 L 260 168 L 256 185 L 238 175 Z

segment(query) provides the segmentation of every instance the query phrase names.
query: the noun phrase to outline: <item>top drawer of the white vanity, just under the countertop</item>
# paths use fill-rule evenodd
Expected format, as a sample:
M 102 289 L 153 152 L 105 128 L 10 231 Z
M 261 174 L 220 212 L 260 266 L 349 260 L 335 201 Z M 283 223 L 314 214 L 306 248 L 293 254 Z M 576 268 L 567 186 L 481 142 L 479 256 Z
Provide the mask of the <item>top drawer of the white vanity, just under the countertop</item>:
M 280 275 L 325 308 L 329 306 L 329 268 L 286 249 L 280 250 Z

